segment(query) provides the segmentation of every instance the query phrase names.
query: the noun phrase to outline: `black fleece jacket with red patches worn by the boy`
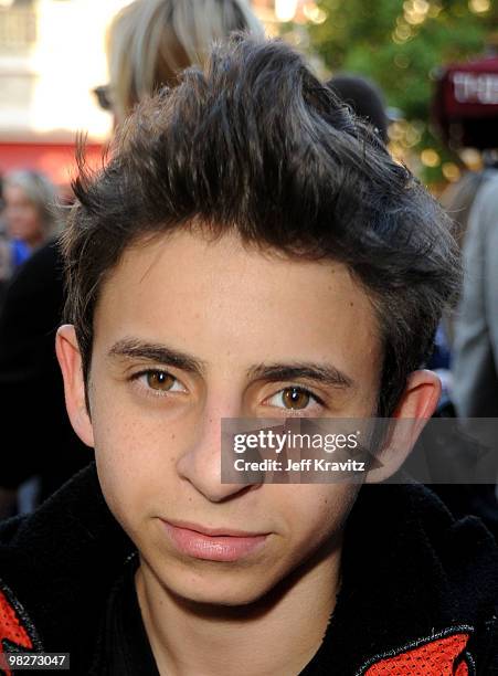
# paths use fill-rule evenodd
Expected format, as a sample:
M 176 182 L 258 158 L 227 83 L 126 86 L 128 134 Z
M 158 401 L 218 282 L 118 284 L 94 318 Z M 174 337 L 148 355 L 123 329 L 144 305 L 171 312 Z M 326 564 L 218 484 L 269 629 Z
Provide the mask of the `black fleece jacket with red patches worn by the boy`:
M 2 648 L 70 652 L 71 674 L 96 673 L 108 599 L 134 551 L 93 464 L 34 514 L 4 521 Z M 336 610 L 303 674 L 496 675 L 497 601 L 498 550 L 477 518 L 455 521 L 420 485 L 364 486 Z

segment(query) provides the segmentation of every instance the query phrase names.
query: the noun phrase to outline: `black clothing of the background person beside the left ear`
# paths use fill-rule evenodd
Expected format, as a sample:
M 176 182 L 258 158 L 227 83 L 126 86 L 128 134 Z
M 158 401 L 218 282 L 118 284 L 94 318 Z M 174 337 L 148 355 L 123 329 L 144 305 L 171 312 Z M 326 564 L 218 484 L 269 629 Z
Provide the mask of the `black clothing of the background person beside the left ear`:
M 19 268 L 0 313 L 0 486 L 36 475 L 41 499 L 92 460 L 64 404 L 55 357 L 62 306 L 62 257 L 51 241 Z

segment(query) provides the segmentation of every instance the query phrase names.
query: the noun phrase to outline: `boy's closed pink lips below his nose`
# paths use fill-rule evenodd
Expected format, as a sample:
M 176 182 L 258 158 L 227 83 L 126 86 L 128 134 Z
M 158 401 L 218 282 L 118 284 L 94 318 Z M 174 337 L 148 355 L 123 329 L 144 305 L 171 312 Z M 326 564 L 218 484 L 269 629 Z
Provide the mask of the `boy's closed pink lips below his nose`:
M 261 547 L 268 535 L 204 528 L 195 524 L 162 524 L 179 551 L 208 561 L 237 561 Z

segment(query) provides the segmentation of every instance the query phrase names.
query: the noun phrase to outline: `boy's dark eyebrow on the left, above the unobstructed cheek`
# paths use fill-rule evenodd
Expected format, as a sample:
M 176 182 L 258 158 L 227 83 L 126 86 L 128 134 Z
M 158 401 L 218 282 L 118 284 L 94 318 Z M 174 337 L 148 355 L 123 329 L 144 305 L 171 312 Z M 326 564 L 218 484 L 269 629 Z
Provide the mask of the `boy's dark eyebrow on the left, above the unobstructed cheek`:
M 201 374 L 205 363 L 187 352 L 181 352 L 166 345 L 146 342 L 136 338 L 123 338 L 113 345 L 108 357 L 125 357 L 127 359 L 146 359 L 155 363 L 176 367 L 183 371 Z

